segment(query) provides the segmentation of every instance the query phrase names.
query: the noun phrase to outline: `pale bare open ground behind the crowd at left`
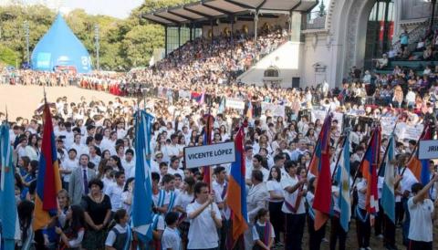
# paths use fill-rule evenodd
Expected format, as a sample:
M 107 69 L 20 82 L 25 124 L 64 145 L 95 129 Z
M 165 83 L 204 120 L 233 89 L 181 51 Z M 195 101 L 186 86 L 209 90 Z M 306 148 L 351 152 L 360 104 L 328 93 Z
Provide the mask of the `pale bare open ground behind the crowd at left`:
M 5 113 L 7 105 L 9 120 L 15 120 L 16 117 L 31 118 L 44 97 L 43 92 L 43 87 L 40 86 L 0 85 L 0 112 Z M 115 99 L 115 96 L 108 93 L 78 87 L 46 87 L 46 92 L 49 102 L 55 102 L 58 97 L 63 96 L 73 102 L 78 102 L 81 97 L 85 97 L 87 101 L 101 99 L 108 102 Z

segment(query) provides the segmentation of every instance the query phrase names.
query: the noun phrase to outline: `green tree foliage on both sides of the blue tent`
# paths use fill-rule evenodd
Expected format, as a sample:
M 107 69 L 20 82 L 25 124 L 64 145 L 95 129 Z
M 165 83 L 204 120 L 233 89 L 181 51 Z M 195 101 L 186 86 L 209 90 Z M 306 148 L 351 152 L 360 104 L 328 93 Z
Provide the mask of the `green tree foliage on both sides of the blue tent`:
M 124 70 L 147 66 L 153 50 L 164 47 L 163 27 L 142 19 L 141 14 L 189 2 L 193 0 L 145 0 L 143 5 L 132 10 L 130 16 L 123 20 L 111 16 L 90 16 L 82 9 L 73 10 L 64 17 L 68 26 L 89 50 L 93 65 L 96 66 L 97 25 L 100 68 Z M 12 55 L 12 52 L 21 64 L 26 60 L 25 21 L 29 23 L 29 50 L 32 53 L 55 17 L 56 13 L 43 5 L 0 6 L 0 51 L 8 51 L 7 55 Z M 5 62 L 11 63 L 9 60 Z

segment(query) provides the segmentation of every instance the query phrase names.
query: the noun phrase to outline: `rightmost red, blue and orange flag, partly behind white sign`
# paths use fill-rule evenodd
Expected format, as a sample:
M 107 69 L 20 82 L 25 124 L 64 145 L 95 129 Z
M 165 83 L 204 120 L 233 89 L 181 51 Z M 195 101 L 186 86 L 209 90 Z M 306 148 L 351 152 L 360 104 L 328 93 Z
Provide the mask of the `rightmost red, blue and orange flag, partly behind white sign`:
M 427 184 L 430 181 L 430 174 L 429 171 L 429 160 L 419 160 L 418 159 L 418 146 L 420 141 L 426 141 L 426 140 L 432 140 L 432 129 L 429 124 L 424 126 L 424 129 L 422 130 L 422 135 L 417 141 L 417 144 L 415 145 L 415 149 L 412 151 L 411 160 L 408 162 L 407 167 L 415 178 L 422 182 L 423 185 Z

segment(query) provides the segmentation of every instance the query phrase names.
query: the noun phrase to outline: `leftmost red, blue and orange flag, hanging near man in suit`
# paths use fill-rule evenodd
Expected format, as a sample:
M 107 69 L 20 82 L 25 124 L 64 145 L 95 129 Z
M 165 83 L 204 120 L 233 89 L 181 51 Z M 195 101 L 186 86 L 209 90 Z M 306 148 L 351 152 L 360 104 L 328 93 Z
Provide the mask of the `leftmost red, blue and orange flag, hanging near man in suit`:
M 44 104 L 43 118 L 43 142 L 36 179 L 34 230 L 43 229 L 50 223 L 50 218 L 57 215 L 57 193 L 61 190 L 55 134 L 47 103 Z

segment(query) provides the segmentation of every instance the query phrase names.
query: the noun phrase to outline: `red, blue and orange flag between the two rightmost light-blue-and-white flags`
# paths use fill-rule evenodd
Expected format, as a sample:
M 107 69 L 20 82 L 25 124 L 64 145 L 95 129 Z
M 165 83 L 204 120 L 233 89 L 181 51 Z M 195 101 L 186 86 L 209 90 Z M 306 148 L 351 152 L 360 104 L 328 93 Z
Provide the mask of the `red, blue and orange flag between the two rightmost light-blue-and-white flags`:
M 367 151 L 360 162 L 360 171 L 367 180 L 366 210 L 373 224 L 374 214 L 379 212 L 378 175 L 379 154 L 381 151 L 381 127 L 376 126 L 371 132 L 371 140 Z

